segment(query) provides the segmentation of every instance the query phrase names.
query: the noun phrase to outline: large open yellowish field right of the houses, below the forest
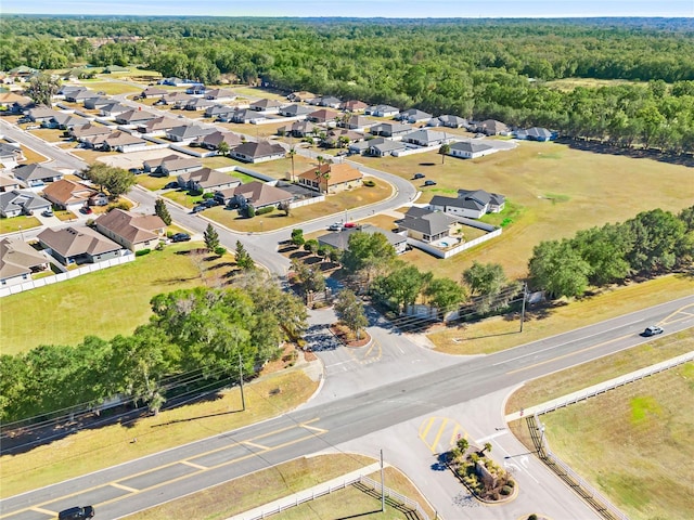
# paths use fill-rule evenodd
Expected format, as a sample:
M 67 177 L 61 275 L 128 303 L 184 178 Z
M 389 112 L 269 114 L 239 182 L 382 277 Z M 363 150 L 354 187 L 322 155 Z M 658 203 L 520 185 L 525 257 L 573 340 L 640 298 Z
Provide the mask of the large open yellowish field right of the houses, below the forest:
M 648 209 L 677 212 L 694 200 L 692 171 L 685 166 L 582 152 L 556 143 L 520 142 L 515 150 L 477 159 L 447 157 L 444 165 L 436 152 L 355 160 L 404 179 L 423 172 L 437 181 L 436 186 L 422 187 L 417 203 L 436 194 L 452 195 L 458 188 L 505 195 L 509 208 L 493 216 L 511 218 L 503 235 L 450 259 L 432 260 L 429 269 L 436 275 L 452 276 L 478 260 L 500 263 L 509 276 L 520 277 L 541 240 L 621 222 Z

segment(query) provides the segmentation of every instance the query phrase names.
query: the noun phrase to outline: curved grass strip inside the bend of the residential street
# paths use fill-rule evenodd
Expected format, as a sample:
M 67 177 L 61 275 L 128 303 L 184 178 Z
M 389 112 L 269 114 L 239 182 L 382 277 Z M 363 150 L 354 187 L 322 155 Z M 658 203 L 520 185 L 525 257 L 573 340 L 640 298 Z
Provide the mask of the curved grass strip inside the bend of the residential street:
M 335 195 L 330 195 L 324 203 L 294 208 L 288 217 L 284 214 L 284 211 L 274 210 L 271 213 L 258 214 L 253 219 L 247 219 L 245 217 L 239 217 L 239 212 L 235 209 L 230 210 L 221 206 L 207 209 L 204 214 L 208 219 L 219 222 L 234 231 L 262 233 L 265 231 L 274 231 L 287 226 L 300 227 L 303 222 L 327 214 L 334 214 L 336 220 L 344 219 L 345 214 L 347 219 L 349 219 L 350 209 L 384 200 L 391 194 L 393 186 L 378 180 L 373 187 L 362 186 L 348 190 Z

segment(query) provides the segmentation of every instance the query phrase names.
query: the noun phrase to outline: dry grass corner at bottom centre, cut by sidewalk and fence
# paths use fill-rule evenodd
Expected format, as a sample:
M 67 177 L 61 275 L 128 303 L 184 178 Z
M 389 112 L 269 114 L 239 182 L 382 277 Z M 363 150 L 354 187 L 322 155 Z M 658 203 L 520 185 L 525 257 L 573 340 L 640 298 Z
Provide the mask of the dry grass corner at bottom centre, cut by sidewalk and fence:
M 127 518 L 142 520 L 185 518 L 221 520 L 339 478 L 374 461 L 374 459 L 363 455 L 351 454 L 297 458 Z M 380 481 L 378 474 L 371 474 L 370 477 Z M 428 509 L 424 498 L 400 471 L 393 467 L 385 468 L 385 480 L 386 486 L 417 500 L 429 517 L 434 518 L 434 511 Z M 403 520 L 414 518 L 396 510 L 390 505 L 386 506 L 386 515 L 381 514 L 381 500 L 355 486 L 348 486 L 298 507 L 293 507 L 280 515 L 274 515 L 272 518 L 284 520 L 333 520 L 335 518 L 351 517 Z

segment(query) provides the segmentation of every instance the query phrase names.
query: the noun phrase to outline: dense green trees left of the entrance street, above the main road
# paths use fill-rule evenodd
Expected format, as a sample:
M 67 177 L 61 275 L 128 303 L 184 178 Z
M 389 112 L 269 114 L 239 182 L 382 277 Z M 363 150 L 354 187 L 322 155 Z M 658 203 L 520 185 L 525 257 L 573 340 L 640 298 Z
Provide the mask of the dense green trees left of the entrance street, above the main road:
M 131 336 L 87 337 L 75 347 L 40 346 L 0 356 L 3 422 L 98 404 L 120 394 L 158 411 L 171 389 L 237 380 L 279 353 L 306 327 L 306 309 L 253 272 L 230 289 L 195 288 L 155 296 L 150 323 Z

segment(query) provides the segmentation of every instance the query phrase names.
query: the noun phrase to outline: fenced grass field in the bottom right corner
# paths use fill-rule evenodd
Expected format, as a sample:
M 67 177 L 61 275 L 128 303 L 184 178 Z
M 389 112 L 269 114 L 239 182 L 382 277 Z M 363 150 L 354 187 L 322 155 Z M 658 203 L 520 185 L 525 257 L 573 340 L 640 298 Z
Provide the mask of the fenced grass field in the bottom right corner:
M 693 363 L 541 420 L 551 450 L 629 518 L 692 518 Z

